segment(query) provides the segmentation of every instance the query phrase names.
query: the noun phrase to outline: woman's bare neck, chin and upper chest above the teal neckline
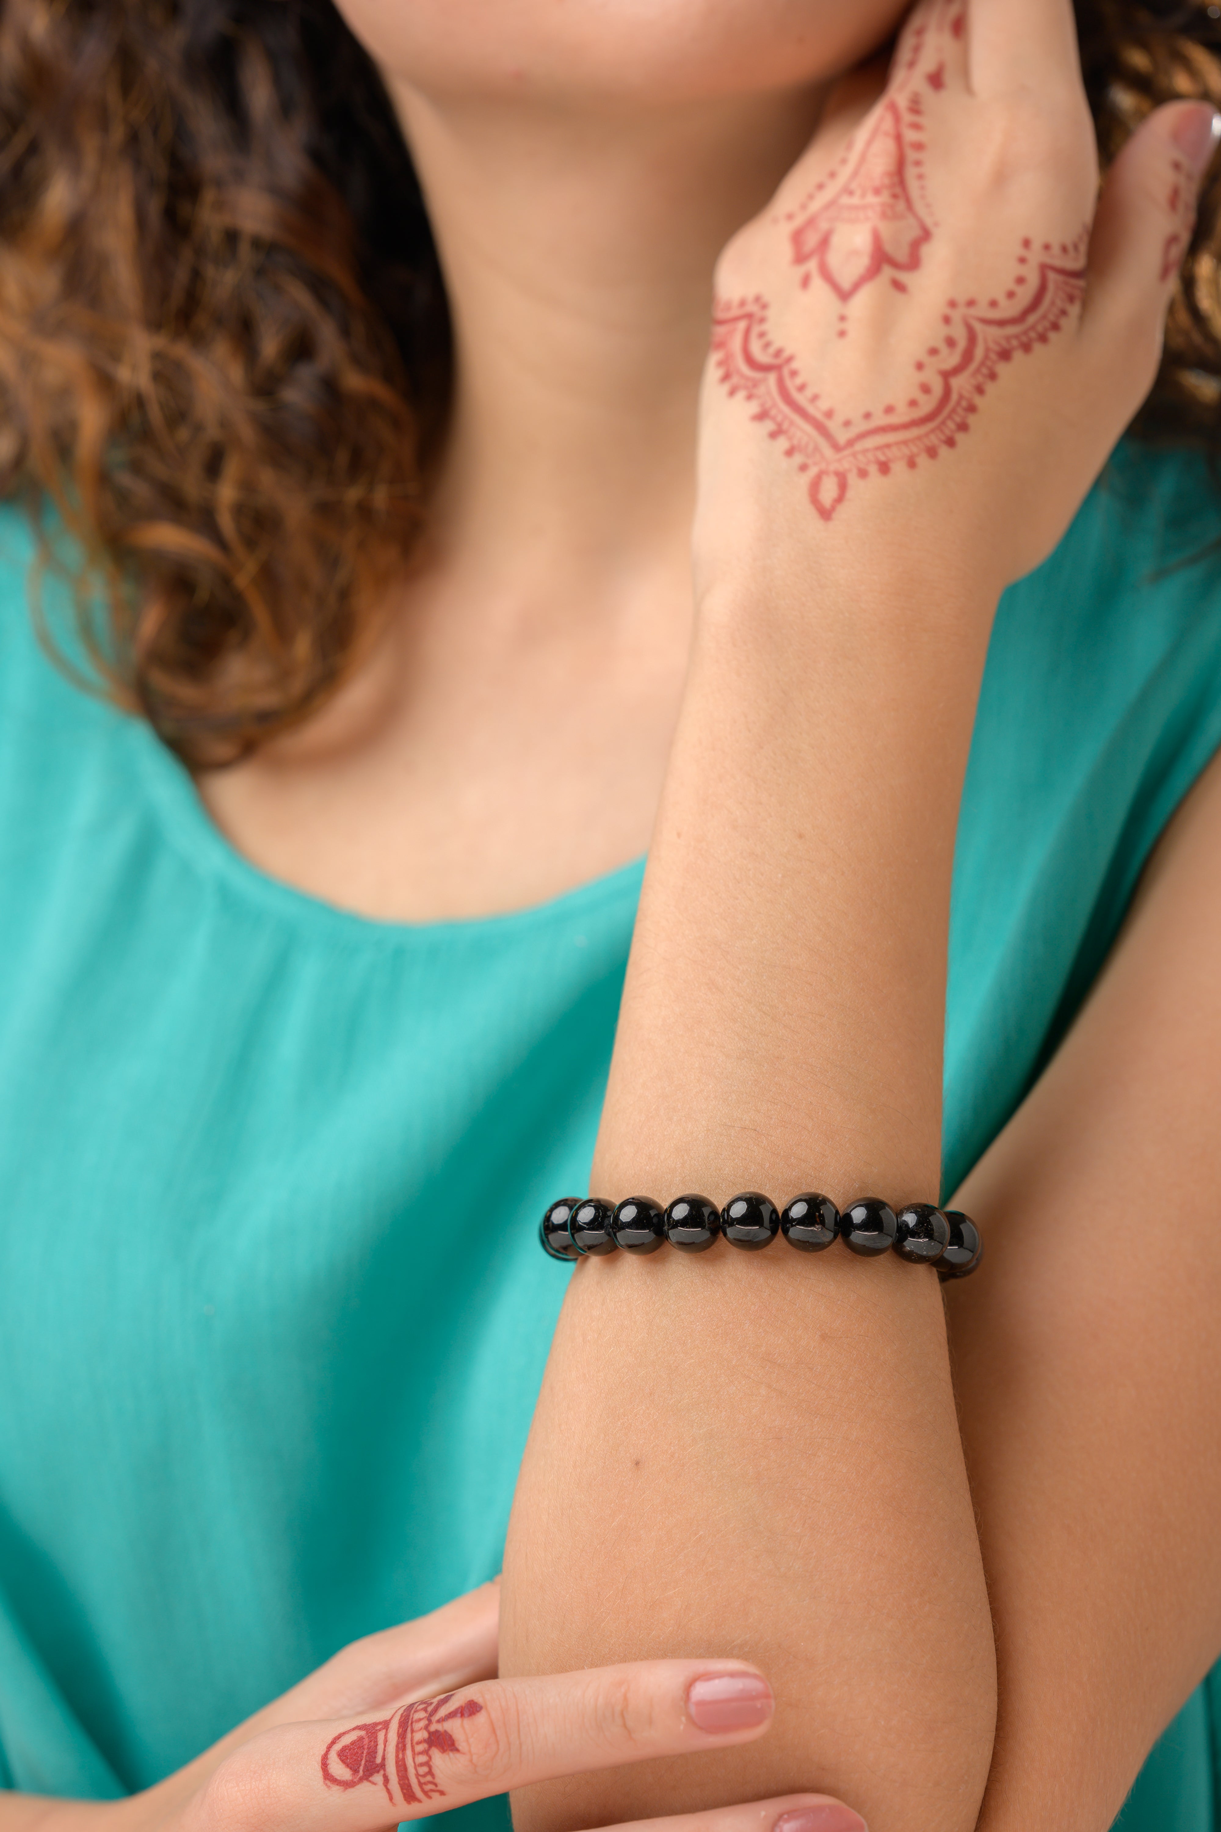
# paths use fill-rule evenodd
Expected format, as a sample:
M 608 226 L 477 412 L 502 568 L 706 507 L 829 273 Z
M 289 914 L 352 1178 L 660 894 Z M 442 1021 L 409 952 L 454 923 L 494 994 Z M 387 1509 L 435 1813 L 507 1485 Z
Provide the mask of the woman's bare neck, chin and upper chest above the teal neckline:
M 364 914 L 524 907 L 646 850 L 690 649 L 712 269 L 802 152 L 824 79 L 899 5 L 641 15 L 348 9 L 445 253 L 454 432 L 379 656 L 308 731 L 201 790 L 254 863 Z M 771 79 L 743 88 L 763 51 Z M 566 106 L 513 81 L 547 62 Z

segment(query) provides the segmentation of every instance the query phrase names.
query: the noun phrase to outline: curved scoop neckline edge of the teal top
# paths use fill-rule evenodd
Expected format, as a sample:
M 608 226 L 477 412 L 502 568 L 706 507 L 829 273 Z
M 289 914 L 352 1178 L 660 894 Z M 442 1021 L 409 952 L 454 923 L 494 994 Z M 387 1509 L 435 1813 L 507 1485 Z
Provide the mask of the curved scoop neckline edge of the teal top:
M 229 841 L 207 812 L 200 790 L 187 766 L 139 720 L 132 720 L 135 760 L 145 788 L 156 806 L 159 823 L 174 850 L 200 876 L 223 885 L 225 890 L 264 912 L 295 927 L 313 929 L 331 940 L 361 945 L 406 947 L 419 942 L 469 940 L 480 932 L 507 936 L 514 931 L 569 923 L 595 914 L 602 905 L 639 898 L 644 876 L 644 857 L 628 859 L 610 872 L 562 890 L 542 903 L 527 903 L 516 911 L 494 911 L 489 916 L 447 916 L 436 921 L 397 921 L 381 916 L 361 916 L 339 903 L 328 903 L 309 890 L 300 890 L 273 878 L 254 865 Z

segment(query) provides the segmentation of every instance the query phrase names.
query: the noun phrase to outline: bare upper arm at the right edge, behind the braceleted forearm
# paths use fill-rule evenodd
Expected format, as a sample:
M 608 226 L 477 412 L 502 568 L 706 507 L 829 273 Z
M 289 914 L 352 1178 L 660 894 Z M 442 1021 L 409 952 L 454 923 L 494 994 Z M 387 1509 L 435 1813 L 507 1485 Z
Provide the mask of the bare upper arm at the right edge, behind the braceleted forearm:
M 1106 1832 L 1221 1652 L 1219 907 L 1214 762 L 963 1189 L 990 1255 L 948 1306 L 1001 1674 L 981 1832 Z

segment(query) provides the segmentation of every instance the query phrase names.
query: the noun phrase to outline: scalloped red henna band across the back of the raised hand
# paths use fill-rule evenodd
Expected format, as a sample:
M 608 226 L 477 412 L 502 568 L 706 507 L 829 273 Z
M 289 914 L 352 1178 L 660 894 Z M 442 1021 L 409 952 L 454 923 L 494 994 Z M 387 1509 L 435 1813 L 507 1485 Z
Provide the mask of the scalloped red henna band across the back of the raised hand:
M 1076 256 L 1082 251 L 1084 236 L 1058 251 L 1043 244 L 1043 256 L 1053 258 L 1038 260 L 1031 273 L 1034 253 L 1027 240 L 1003 300 L 950 299 L 937 341 L 913 363 L 912 392 L 902 405 L 888 401 L 857 418 L 837 414 L 805 383 L 796 359 L 769 337 L 762 297 L 718 300 L 712 321 L 716 370 L 730 396 L 745 394 L 769 436 L 783 440 L 785 456 L 809 476 L 809 500 L 829 522 L 851 478 L 888 476 L 895 465 L 913 471 L 921 458 L 937 458 L 957 445 L 1001 365 L 1045 344 L 1080 304 L 1086 269 Z M 1054 258 L 1056 253 L 1062 258 Z

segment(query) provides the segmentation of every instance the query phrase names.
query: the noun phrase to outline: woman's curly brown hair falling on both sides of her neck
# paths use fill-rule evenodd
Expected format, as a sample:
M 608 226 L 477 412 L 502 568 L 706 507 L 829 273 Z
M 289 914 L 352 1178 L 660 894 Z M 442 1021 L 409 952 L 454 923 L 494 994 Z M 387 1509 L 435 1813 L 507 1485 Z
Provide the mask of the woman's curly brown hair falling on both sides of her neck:
M 1076 0 L 1104 161 L 1221 103 L 1219 15 Z M 381 79 L 331 0 L 0 0 L 0 495 L 71 537 L 84 676 L 187 762 L 242 757 L 353 665 L 445 434 Z M 1214 172 L 1135 427 L 1214 453 L 1219 255 Z

